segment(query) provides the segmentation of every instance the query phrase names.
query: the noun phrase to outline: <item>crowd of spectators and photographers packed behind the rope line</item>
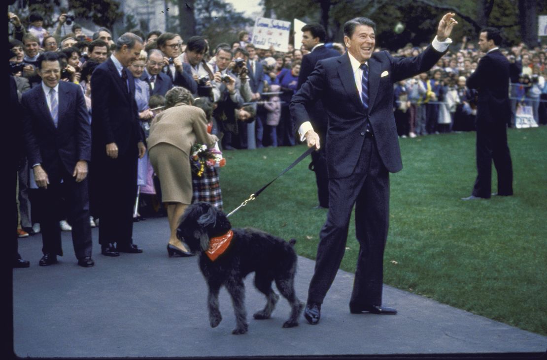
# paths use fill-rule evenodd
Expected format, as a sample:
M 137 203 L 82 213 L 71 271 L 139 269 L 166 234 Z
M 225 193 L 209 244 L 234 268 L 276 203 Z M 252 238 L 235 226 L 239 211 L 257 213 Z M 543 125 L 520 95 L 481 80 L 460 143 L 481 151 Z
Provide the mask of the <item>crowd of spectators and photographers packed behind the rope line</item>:
M 37 61 L 44 51 L 56 51 L 62 59 L 63 81 L 79 84 L 91 114 L 91 76 L 98 64 L 107 60 L 114 50 L 112 31 L 99 28 L 84 34 L 74 23 L 67 28 L 67 15 L 59 16 L 53 33 L 43 27 L 43 18 L 32 13 L 25 26 L 18 16 L 10 19 L 10 73 L 14 76 L 19 98 L 28 89 L 39 86 Z M 129 68 L 136 79 L 136 101 L 139 120 L 147 133 L 164 96 L 174 86 L 186 88 L 194 98 L 206 97 L 213 105 L 211 133 L 220 141 L 221 149 L 255 149 L 264 146 L 293 146 L 294 136 L 288 105 L 296 91 L 300 62 L 309 52 L 304 46 L 289 44 L 289 51 L 257 49 L 249 43 L 249 33 L 241 31 L 231 44 L 211 44 L 207 38 L 183 39 L 171 32 L 131 31 L 144 41 L 138 60 Z M 476 69 L 483 56 L 475 44 L 465 37 L 452 44 L 449 51 L 427 73 L 394 85 L 393 110 L 400 137 L 473 131 L 476 114 L 476 93 L 465 86 L 465 80 Z M 342 44 L 326 46 L 344 54 Z M 424 48 L 412 44 L 399 49 L 395 56 L 415 56 Z M 377 48 L 376 51 L 380 49 Z M 510 127 L 516 126 L 520 107 L 531 107 L 537 124 L 547 123 L 547 46 L 528 48 L 525 44 L 502 49 L 510 62 L 522 64 L 520 74 L 511 76 L 513 116 Z M 343 106 L 343 104 L 341 104 Z M 91 116 L 90 116 L 91 119 Z M 32 172 L 29 164 L 19 171 L 20 237 L 40 231 L 38 215 L 32 211 Z M 143 176 L 150 168 L 143 167 Z M 141 186 L 149 186 L 144 181 Z M 153 186 L 152 186 L 153 187 Z M 154 193 L 154 191 L 152 191 Z M 157 199 L 155 208 L 158 208 Z M 139 220 L 136 206 L 136 220 Z M 92 215 L 92 213 L 91 213 Z M 61 219 L 62 220 L 62 219 Z M 95 225 L 91 217 L 90 223 Z M 60 223 L 63 230 L 70 225 Z

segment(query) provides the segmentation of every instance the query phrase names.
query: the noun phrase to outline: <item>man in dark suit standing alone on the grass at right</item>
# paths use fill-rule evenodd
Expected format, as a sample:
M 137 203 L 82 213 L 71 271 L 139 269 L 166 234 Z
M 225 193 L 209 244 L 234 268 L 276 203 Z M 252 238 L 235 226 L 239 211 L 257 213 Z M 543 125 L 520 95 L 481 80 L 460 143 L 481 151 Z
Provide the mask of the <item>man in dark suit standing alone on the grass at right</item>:
M 487 27 L 479 35 L 479 48 L 486 55 L 467 79 L 467 87 L 479 90 L 476 115 L 477 178 L 471 196 L 462 200 L 488 199 L 492 188 L 492 161 L 498 172 L 498 192 L 513 195 L 513 167 L 507 144 L 507 125 L 511 119 L 509 78 L 511 67 L 499 51 L 502 43 L 499 29 Z M 520 72 L 520 70 L 518 70 Z

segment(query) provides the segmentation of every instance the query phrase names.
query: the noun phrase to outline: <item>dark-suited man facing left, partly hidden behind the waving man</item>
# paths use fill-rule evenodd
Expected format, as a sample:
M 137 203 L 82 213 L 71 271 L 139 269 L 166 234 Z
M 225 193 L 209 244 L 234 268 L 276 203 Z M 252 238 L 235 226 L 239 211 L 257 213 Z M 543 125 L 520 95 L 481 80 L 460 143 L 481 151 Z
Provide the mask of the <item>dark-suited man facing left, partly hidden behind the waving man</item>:
M 298 85 L 296 90 L 299 90 L 302 84 L 306 82 L 308 76 L 315 68 L 319 60 L 329 57 L 340 56 L 340 52 L 325 47 L 325 28 L 318 23 L 310 23 L 302 27 L 302 45 L 310 51 L 310 54 L 304 55 L 302 64 L 300 65 L 300 74 L 298 75 Z M 321 101 L 312 104 L 306 108 L 310 115 L 310 123 L 319 135 L 319 142 L 323 144 L 317 151 L 311 154 L 310 169 L 315 173 L 317 184 L 317 197 L 319 205 L 317 208 L 329 207 L 329 178 L 327 175 L 327 157 L 325 155 L 325 134 L 327 134 L 327 118 L 325 109 Z

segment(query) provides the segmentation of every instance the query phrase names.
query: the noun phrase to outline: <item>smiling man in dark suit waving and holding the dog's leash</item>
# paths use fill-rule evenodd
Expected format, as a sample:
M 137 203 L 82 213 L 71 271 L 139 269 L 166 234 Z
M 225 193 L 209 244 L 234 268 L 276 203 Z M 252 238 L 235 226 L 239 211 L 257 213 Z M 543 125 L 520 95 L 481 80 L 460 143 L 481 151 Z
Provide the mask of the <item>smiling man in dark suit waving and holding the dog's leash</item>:
M 396 314 L 382 306 L 383 251 L 389 220 L 389 172 L 402 167 L 393 116 L 393 83 L 432 67 L 446 51 L 457 23 L 448 13 L 437 37 L 422 54 L 394 58 L 374 52 L 375 23 L 356 17 L 344 25 L 348 52 L 317 62 L 315 70 L 293 96 L 290 110 L 301 139 L 321 147 L 306 106 L 320 100 L 327 114 L 329 211 L 319 234 L 315 273 L 304 316 L 319 322 L 321 304 L 344 256 L 348 226 L 356 205 L 356 235 L 360 244 L 350 300 L 350 312 Z

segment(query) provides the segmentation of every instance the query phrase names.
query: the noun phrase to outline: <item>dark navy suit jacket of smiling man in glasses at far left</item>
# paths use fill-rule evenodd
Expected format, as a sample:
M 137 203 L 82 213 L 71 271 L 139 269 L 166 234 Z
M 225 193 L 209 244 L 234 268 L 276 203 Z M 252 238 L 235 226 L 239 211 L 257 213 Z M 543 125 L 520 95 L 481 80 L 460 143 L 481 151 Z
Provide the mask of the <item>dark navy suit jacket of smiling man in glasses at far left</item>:
M 79 160 L 91 160 L 91 128 L 82 88 L 59 82 L 58 122 L 55 127 L 42 85 L 23 93 L 23 134 L 28 162 L 42 164 L 50 178 L 69 174 Z

